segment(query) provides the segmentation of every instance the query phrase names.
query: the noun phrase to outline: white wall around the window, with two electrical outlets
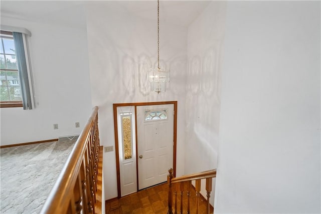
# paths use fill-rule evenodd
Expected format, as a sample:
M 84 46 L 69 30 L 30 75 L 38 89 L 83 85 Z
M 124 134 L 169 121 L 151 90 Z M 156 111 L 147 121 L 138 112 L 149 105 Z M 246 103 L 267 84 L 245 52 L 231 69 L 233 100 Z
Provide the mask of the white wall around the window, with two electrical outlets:
M 1 24 L 27 28 L 36 108 L 1 108 L 1 145 L 79 134 L 92 110 L 87 34 L 64 23 L 4 17 Z M 75 128 L 80 122 L 80 128 Z M 54 130 L 53 124 L 59 129 Z

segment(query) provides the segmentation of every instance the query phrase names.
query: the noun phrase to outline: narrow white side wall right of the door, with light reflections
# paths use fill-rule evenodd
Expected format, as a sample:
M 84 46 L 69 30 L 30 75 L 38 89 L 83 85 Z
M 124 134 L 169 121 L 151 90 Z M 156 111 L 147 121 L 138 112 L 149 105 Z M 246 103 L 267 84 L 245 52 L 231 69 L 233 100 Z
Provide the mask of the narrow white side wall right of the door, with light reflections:
M 225 14 L 225 2 L 212 2 L 188 29 L 185 174 L 217 168 Z M 211 204 L 214 192 L 215 179 Z

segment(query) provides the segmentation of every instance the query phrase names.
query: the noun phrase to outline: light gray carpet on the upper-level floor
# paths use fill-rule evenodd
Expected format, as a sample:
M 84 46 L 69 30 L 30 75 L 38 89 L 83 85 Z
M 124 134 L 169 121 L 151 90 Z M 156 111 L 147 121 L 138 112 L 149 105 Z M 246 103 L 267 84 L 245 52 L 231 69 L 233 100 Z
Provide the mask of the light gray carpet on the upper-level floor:
M 1 213 L 40 213 L 75 140 L 2 148 Z

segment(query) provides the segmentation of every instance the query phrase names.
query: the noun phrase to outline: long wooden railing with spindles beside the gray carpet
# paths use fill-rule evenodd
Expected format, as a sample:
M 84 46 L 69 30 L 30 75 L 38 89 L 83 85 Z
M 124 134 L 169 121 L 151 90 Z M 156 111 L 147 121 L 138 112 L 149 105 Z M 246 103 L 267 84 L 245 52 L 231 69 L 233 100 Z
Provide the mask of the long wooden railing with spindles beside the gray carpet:
M 41 213 L 95 213 L 98 161 L 98 107 L 95 106 Z

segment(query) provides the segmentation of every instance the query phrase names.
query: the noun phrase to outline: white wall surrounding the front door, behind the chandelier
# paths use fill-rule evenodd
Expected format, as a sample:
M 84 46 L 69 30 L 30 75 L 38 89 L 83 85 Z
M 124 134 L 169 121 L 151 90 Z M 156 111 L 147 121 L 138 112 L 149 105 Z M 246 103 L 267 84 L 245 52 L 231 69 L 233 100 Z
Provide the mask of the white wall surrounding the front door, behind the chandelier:
M 138 3 L 137 3 L 138 4 Z M 114 146 L 113 103 L 178 101 L 177 175 L 184 171 L 187 28 L 161 23 L 160 58 L 171 70 L 167 92 L 150 92 L 147 71 L 156 65 L 156 21 L 135 17 L 114 2 L 87 6 L 91 98 L 99 106 L 99 135 Z M 115 148 L 115 147 L 114 147 Z M 104 153 L 105 197 L 117 196 L 115 151 Z

